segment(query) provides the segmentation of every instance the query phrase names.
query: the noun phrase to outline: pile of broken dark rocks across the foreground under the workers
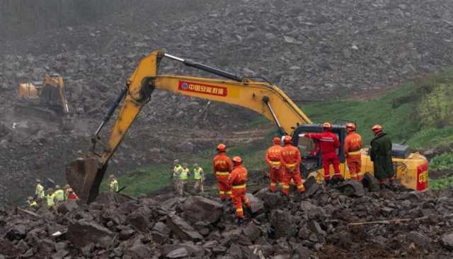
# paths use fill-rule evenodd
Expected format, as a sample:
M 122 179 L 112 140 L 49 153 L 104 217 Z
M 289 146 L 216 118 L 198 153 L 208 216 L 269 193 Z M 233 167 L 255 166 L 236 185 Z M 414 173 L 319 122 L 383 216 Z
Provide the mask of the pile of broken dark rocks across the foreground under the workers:
M 345 191 L 348 188 L 353 191 Z M 248 193 L 253 215 L 236 226 L 217 197 L 138 200 L 103 192 L 91 205 L 66 202 L 0 213 L 0 258 L 449 258 L 452 195 L 368 192 L 312 183 L 304 195 Z M 341 190 L 341 191 L 340 191 Z M 294 192 L 292 192 L 294 193 Z M 253 216 L 253 217 L 251 217 Z

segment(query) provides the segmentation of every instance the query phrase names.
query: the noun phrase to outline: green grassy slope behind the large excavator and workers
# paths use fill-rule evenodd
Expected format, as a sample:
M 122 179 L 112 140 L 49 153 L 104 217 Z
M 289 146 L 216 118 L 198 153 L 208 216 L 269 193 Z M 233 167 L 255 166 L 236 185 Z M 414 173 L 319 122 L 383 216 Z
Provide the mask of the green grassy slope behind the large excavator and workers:
M 410 82 L 382 96 L 369 100 L 343 100 L 299 106 L 311 120 L 317 123 L 334 122 L 336 119 L 357 123 L 364 145 L 372 139 L 369 128 L 380 124 L 394 142 L 406 141 L 413 150 L 451 146 L 453 143 L 453 70 L 442 71 L 419 81 Z M 251 127 L 260 127 L 265 119 L 251 122 Z M 269 133 L 270 136 L 275 132 Z M 236 146 L 229 149 L 231 156 L 240 155 L 251 169 L 263 168 L 263 156 L 268 143 L 255 146 Z M 194 162 L 210 171 L 212 150 L 202 151 L 181 158 L 192 167 Z M 451 169 L 452 154 L 433 159 L 432 169 Z M 440 170 L 440 169 L 439 169 Z M 120 185 L 127 185 L 126 193 L 140 195 L 161 188 L 170 182 L 170 165 L 150 165 L 120 178 Z M 431 180 L 433 188 L 453 185 L 453 178 Z M 104 187 L 105 188 L 105 187 Z

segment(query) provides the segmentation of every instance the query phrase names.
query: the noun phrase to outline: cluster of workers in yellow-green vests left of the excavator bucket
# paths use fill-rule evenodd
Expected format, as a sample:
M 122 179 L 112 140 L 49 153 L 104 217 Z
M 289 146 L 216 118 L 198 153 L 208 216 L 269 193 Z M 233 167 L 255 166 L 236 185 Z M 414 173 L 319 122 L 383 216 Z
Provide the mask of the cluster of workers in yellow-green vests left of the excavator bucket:
M 64 188 L 61 188 L 60 185 L 55 185 L 55 188 L 45 190 L 42 181 L 36 179 L 35 197 L 28 197 L 27 203 L 32 209 L 38 209 L 44 204 L 48 209 L 55 210 L 57 205 L 65 200 L 79 200 L 71 186 L 64 185 Z

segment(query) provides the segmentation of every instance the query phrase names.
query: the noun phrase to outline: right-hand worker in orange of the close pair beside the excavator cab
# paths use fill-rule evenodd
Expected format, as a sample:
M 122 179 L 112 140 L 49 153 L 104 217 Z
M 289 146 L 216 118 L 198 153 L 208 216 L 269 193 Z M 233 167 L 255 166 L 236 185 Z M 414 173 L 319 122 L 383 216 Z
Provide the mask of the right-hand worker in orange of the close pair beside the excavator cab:
M 282 192 L 284 195 L 289 194 L 289 183 L 291 183 L 291 180 L 296 183 L 299 193 L 304 192 L 305 188 L 300 175 L 300 163 L 302 161 L 300 151 L 296 146 L 292 145 L 290 136 L 285 136 L 283 142 L 285 146 L 282 147 L 282 166 L 284 168 Z

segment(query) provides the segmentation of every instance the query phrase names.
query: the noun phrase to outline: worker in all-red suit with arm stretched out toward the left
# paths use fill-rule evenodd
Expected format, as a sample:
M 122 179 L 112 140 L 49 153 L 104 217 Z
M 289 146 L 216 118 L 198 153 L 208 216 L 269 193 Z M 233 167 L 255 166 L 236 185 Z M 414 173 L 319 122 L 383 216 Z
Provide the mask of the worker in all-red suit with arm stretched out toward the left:
M 333 178 L 336 181 L 341 180 L 340 159 L 338 159 L 338 154 L 336 152 L 336 149 L 340 148 L 340 142 L 338 141 L 336 134 L 332 132 L 331 123 L 323 123 L 323 133 L 307 133 L 302 134 L 302 136 L 319 141 L 319 146 L 323 156 L 324 181 L 326 184 L 331 182 L 331 164 L 333 165 L 333 170 L 335 171 Z

